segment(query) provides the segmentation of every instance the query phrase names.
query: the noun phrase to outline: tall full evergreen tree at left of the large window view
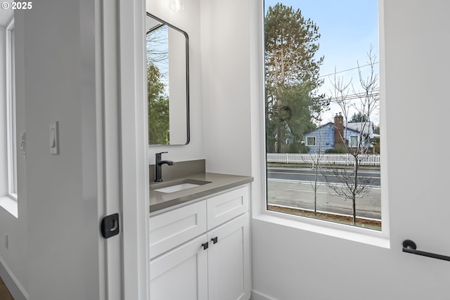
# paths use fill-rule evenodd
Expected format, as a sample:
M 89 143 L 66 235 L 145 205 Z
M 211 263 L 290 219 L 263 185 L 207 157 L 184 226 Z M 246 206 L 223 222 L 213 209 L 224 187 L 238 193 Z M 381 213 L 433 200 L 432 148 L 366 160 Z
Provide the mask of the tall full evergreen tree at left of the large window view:
M 304 152 L 304 132 L 315 128 L 327 103 L 316 89 L 323 84 L 316 59 L 319 27 L 305 19 L 300 9 L 276 4 L 265 17 L 266 147 L 283 152 L 286 138 L 293 139 L 291 152 Z

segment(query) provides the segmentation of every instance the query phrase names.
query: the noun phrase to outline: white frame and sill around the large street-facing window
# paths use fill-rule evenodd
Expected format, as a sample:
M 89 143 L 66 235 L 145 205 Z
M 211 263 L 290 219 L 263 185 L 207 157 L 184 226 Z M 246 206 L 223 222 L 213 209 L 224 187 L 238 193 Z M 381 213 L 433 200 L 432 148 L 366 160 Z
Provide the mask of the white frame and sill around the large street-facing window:
M 259 9 L 264 11 L 264 1 L 259 2 Z M 378 26 L 379 26 L 379 47 L 380 47 L 380 122 L 385 124 L 385 67 L 383 65 L 385 60 L 385 45 L 384 45 L 384 0 L 378 0 Z M 259 74 L 256 76 L 259 78 L 259 91 L 260 96 L 265 95 L 264 93 L 264 13 L 259 13 Z M 340 237 L 345 240 L 352 240 L 354 242 L 361 242 L 364 244 L 371 244 L 377 247 L 390 248 L 390 222 L 389 222 L 389 212 L 388 207 L 388 195 L 387 195 L 387 163 L 385 162 L 387 155 L 387 148 L 383 147 L 383 151 L 380 155 L 380 159 L 383 161 L 381 167 L 382 185 L 381 190 L 381 206 L 382 206 L 382 223 L 383 227 L 381 231 L 368 230 L 366 228 L 359 228 L 356 226 L 348 226 L 341 223 L 333 223 L 330 221 L 324 221 L 319 219 L 312 219 L 303 216 L 295 216 L 293 214 L 283 214 L 278 211 L 270 211 L 267 209 L 267 178 L 266 178 L 266 126 L 265 126 L 265 107 L 264 101 L 258 99 L 258 110 L 262 114 L 259 117 L 259 124 L 257 127 L 259 131 L 259 136 L 261 138 L 261 144 L 259 149 L 260 152 L 260 172 L 261 181 L 255 180 L 253 184 L 254 188 L 259 190 L 261 197 L 257 197 L 257 200 L 253 200 L 254 203 L 254 213 L 253 218 L 259 221 L 265 221 L 269 223 L 275 223 L 280 226 L 285 226 L 289 228 L 297 228 L 299 230 L 309 231 L 311 233 L 319 233 L 322 235 L 329 235 L 332 237 Z M 383 130 L 385 133 L 385 130 Z M 385 141 L 385 135 L 381 136 L 381 140 Z M 306 143 L 306 141 L 305 141 Z M 383 142 L 382 142 L 383 143 Z M 385 145 L 385 143 L 383 143 Z

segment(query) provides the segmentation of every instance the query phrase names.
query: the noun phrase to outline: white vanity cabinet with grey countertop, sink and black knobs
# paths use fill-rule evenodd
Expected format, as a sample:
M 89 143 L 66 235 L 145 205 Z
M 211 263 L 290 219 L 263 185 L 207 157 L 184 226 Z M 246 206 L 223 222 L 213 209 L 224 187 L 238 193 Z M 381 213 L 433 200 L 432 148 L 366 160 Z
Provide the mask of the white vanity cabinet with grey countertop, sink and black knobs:
M 250 299 L 251 181 L 198 173 L 150 184 L 150 299 Z

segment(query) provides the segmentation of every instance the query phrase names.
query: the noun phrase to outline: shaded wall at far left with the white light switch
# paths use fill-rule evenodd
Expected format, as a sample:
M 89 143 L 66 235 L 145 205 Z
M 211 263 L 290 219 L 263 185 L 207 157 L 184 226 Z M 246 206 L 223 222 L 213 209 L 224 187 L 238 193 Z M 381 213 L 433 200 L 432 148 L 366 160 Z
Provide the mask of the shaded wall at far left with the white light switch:
M 18 219 L 0 209 L 0 258 L 30 299 L 99 299 L 94 11 L 94 1 L 47 0 L 15 14 L 27 157 L 25 171 L 19 152 Z M 56 120 L 60 155 L 50 155 Z

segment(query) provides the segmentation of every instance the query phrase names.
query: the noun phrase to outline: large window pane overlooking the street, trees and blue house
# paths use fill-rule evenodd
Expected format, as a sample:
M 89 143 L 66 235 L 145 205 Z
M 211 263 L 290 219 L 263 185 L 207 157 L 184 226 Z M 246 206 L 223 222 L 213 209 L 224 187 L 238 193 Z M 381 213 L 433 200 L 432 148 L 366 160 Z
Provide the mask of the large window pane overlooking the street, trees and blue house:
M 381 230 L 378 0 L 265 0 L 264 46 L 266 209 Z

